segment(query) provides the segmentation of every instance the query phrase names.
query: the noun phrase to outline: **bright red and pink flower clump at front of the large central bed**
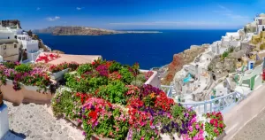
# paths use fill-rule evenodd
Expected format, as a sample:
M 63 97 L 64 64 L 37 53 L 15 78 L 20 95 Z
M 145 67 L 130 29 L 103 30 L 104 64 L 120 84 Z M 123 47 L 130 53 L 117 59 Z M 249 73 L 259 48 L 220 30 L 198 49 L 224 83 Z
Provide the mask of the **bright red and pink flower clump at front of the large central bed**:
M 106 100 L 91 97 L 82 107 L 83 125 L 87 137 L 124 139 L 128 132 L 128 116 Z

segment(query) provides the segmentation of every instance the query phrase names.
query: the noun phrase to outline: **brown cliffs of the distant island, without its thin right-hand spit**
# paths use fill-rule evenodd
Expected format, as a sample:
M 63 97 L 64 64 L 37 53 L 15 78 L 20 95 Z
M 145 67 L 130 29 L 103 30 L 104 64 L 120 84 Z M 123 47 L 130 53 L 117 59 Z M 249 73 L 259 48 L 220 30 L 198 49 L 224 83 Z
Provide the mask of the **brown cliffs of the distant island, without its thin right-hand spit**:
M 52 33 L 53 35 L 112 35 L 117 31 L 92 27 L 48 27 L 35 30 L 35 33 Z

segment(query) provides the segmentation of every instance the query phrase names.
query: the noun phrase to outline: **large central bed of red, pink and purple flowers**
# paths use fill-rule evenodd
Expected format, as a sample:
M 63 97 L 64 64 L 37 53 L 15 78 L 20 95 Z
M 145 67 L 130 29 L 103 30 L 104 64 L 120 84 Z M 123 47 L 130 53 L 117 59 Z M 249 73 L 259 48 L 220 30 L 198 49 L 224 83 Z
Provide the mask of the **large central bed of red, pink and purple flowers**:
M 158 140 L 177 133 L 186 140 L 201 140 L 223 133 L 222 113 L 199 120 L 163 90 L 144 84 L 155 74 L 139 68 L 102 60 L 79 66 L 76 73 L 65 74 L 65 87 L 52 99 L 53 113 L 82 123 L 87 139 Z

